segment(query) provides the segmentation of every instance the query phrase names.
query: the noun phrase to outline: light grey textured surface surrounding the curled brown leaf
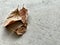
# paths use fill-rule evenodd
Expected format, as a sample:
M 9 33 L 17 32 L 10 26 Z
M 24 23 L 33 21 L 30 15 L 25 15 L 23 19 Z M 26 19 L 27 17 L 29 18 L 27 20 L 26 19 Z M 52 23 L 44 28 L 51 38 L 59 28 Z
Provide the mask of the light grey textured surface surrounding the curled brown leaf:
M 3 23 L 17 5 L 29 10 L 27 32 L 10 35 Z M 60 0 L 0 0 L 0 45 L 60 45 Z

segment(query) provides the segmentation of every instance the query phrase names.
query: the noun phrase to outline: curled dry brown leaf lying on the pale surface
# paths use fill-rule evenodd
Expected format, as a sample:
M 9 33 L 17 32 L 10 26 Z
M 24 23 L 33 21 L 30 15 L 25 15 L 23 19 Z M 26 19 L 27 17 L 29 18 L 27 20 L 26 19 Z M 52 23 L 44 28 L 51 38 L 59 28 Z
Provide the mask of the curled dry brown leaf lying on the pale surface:
M 28 10 L 22 9 L 14 10 L 4 23 L 4 26 L 9 30 L 15 32 L 17 35 L 23 35 L 27 28 Z

